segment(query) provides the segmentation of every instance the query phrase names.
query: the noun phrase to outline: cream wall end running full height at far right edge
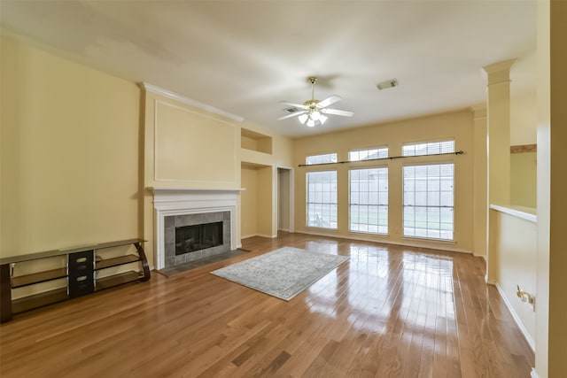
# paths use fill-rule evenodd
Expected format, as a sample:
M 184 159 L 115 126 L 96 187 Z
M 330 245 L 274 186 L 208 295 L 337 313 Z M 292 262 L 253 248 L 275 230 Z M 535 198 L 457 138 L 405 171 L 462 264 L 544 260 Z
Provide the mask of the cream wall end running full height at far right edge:
M 538 2 L 538 292 L 534 377 L 567 371 L 567 3 Z

